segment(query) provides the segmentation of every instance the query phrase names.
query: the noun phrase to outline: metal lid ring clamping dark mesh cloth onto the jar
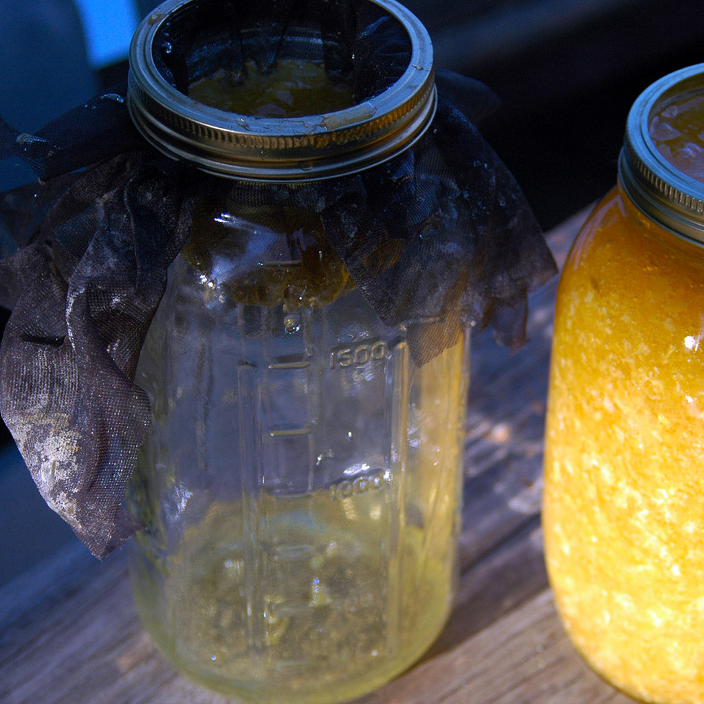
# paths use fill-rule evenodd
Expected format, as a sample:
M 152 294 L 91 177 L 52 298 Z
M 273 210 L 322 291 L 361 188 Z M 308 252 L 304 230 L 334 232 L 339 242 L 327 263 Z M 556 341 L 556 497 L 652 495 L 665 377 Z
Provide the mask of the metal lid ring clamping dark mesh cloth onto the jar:
M 171 158 L 218 175 L 273 182 L 345 175 L 387 161 L 427 130 L 435 113 L 432 42 L 396 0 L 365 0 L 408 34 L 410 60 L 381 94 L 350 108 L 302 118 L 239 115 L 179 92 L 154 60 L 164 23 L 199 9 L 199 0 L 167 0 L 137 28 L 130 46 L 127 106 L 142 136 Z

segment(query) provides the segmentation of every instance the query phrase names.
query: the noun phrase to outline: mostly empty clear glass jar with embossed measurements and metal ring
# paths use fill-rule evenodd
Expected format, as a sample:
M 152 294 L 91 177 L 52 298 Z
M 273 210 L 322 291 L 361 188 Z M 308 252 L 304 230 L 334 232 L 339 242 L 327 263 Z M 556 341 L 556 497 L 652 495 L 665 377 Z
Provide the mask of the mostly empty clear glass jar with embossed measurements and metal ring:
M 223 181 L 291 187 L 375 165 L 422 134 L 434 87 L 425 30 L 374 5 L 408 31 L 409 68 L 375 101 L 316 118 L 333 140 L 270 137 L 315 131 L 305 111 L 323 112 L 329 88 L 318 79 L 302 115 L 277 121 L 163 79 L 160 32 L 220 16 L 202 1 L 167 3 L 137 30 L 132 118 Z M 285 77 L 271 76 L 249 100 L 276 96 Z M 211 89 L 201 99 L 217 103 Z M 401 114 L 391 127 L 389 113 Z M 214 193 L 193 213 L 136 378 L 154 416 L 129 496 L 145 525 L 137 608 L 173 665 L 211 689 L 350 699 L 416 660 L 451 607 L 468 340 L 414 363 L 406 327 L 379 319 L 311 210 Z

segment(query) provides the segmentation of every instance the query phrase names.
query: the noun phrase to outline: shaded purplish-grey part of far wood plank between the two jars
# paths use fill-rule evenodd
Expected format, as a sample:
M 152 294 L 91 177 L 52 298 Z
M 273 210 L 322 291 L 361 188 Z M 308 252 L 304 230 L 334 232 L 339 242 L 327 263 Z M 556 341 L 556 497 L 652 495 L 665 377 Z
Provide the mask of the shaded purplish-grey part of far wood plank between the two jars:
M 588 211 L 548 235 L 561 268 Z M 466 569 L 540 510 L 543 427 L 557 278 L 529 301 L 529 342 L 511 352 L 484 330 L 472 341 L 463 534 Z

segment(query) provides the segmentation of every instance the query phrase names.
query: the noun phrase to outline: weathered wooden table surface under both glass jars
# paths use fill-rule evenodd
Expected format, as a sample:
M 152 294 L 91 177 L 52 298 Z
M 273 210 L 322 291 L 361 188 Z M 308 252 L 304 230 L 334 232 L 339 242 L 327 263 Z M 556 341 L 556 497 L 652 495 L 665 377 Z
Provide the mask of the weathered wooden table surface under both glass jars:
M 585 215 L 548 235 L 558 264 Z M 572 650 L 543 566 L 541 460 L 556 286 L 532 296 L 531 340 L 517 353 L 489 331 L 473 341 L 456 605 L 415 667 L 355 704 L 633 701 Z M 124 553 L 100 563 L 70 546 L 0 590 L 3 704 L 228 701 L 181 677 L 151 645 Z

